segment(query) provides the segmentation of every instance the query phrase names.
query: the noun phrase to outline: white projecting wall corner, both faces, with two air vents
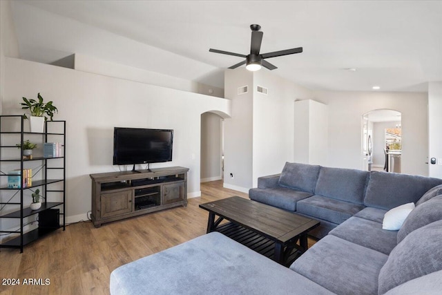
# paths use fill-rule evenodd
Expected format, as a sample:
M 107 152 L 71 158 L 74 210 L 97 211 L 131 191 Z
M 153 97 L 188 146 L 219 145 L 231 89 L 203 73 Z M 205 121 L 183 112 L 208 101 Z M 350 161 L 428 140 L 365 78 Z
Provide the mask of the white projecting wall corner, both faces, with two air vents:
M 310 98 L 311 91 L 268 70 L 226 70 L 224 82 L 226 98 L 232 100 L 232 118 L 224 122 L 224 186 L 248 191 L 260 176 L 280 173 L 285 162 L 293 161 L 293 104 Z M 249 93 L 238 95 L 244 85 Z M 267 88 L 267 95 L 257 86 Z

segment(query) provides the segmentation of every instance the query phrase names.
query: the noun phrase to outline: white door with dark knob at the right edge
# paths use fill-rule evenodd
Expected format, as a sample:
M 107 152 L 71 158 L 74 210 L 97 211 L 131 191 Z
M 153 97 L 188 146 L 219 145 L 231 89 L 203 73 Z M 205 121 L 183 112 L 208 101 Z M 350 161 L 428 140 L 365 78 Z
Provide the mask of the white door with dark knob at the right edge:
M 428 84 L 428 161 L 436 158 L 436 164 L 429 164 L 429 175 L 442 178 L 442 82 Z

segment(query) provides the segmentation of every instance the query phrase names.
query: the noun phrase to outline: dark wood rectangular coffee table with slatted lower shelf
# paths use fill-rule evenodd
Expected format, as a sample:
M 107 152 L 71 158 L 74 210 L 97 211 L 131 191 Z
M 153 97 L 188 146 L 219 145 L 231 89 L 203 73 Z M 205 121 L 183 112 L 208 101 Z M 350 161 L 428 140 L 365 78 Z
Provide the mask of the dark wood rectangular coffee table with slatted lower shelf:
M 219 231 L 286 266 L 307 251 L 307 233 L 320 223 L 238 196 L 200 204 L 200 208 L 209 211 L 207 233 Z M 230 222 L 221 224 L 224 219 Z

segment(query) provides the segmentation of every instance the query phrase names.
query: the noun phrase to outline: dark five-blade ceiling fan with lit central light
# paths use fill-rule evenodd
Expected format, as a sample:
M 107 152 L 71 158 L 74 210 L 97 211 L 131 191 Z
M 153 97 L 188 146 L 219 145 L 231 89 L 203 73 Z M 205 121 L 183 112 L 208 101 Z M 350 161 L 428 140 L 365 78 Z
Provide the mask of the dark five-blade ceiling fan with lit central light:
M 259 70 L 261 66 L 268 68 L 269 70 L 274 70 L 277 67 L 273 66 L 273 64 L 270 64 L 269 61 L 266 61 L 265 59 L 271 58 L 271 57 L 280 57 L 282 55 L 293 55 L 295 53 L 302 53 L 302 47 L 298 48 L 292 48 L 287 50 L 280 50 L 280 51 L 274 51 L 273 53 L 264 53 L 260 54 L 260 48 L 261 48 L 261 41 L 262 41 L 262 35 L 264 35 L 263 32 L 260 32 L 261 26 L 260 25 L 250 25 L 251 28 L 251 46 L 250 46 L 250 54 L 249 55 L 242 55 L 240 53 L 230 53 L 229 51 L 223 51 L 218 49 L 210 48 L 209 51 L 211 53 L 221 53 L 222 55 L 233 55 L 236 57 L 245 57 L 245 60 L 239 62 L 238 64 L 235 64 L 229 68 L 238 68 L 238 66 L 242 66 L 243 64 L 246 64 L 247 70 Z

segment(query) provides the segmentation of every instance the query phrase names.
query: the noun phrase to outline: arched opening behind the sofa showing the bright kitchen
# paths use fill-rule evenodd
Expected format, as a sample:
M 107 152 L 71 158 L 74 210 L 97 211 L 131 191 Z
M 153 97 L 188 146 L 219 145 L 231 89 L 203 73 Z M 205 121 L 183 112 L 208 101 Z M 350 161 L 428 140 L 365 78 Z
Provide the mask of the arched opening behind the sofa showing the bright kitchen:
M 362 169 L 401 172 L 402 114 L 390 109 L 363 115 Z

